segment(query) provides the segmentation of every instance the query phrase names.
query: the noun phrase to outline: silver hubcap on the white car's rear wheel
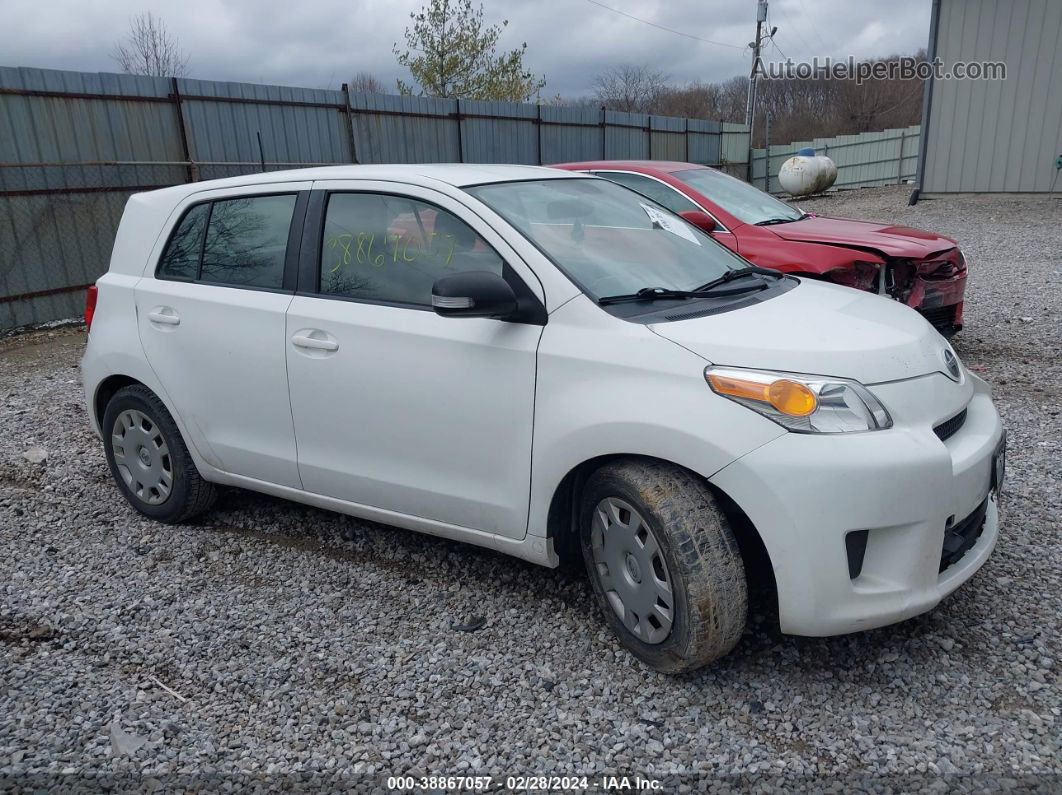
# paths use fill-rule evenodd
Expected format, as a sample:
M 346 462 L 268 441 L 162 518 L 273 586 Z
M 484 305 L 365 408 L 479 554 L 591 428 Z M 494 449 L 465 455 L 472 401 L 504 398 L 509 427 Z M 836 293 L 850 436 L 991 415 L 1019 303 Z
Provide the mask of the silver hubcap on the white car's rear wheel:
M 173 462 L 162 431 L 151 417 L 135 409 L 119 414 L 110 448 L 130 491 L 149 505 L 166 502 L 173 489 Z

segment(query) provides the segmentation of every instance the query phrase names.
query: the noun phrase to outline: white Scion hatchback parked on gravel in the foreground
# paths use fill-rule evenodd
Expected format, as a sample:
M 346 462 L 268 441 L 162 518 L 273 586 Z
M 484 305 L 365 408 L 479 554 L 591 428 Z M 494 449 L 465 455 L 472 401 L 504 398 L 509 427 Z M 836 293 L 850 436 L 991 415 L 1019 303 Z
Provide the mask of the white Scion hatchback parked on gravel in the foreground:
M 515 166 L 274 172 L 133 196 L 90 291 L 118 488 L 216 485 L 581 550 L 660 671 L 923 612 L 998 534 L 988 386 L 917 312 L 761 271 L 614 183 Z M 767 561 L 757 567 L 755 563 Z

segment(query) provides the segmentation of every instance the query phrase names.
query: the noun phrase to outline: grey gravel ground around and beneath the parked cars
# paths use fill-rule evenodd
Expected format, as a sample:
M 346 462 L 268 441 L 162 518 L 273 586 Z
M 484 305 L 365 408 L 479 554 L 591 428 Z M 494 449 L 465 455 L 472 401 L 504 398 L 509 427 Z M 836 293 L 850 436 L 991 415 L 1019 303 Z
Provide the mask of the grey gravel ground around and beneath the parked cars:
M 962 243 L 955 344 L 1011 434 L 999 547 L 929 615 L 829 639 L 757 615 L 684 677 L 633 661 L 572 573 L 247 492 L 196 525 L 142 519 L 88 429 L 83 335 L 0 343 L 0 789 L 613 773 L 1058 791 L 1062 205 L 907 194 L 805 208 Z

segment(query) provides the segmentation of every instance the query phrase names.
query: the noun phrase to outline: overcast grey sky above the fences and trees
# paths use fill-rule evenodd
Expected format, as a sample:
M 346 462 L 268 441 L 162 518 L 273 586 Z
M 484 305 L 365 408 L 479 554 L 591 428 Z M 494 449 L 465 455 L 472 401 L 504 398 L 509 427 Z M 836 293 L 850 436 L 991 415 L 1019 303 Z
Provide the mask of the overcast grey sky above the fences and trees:
M 0 65 L 117 71 L 109 52 L 131 16 L 151 11 L 181 40 L 192 77 L 338 88 L 369 71 L 390 88 L 406 76 L 392 45 L 426 0 L 0 0 Z M 546 77 L 544 97 L 593 92 L 610 66 L 648 64 L 675 82 L 748 73 L 755 0 L 485 0 L 490 21 L 509 19 L 507 48 L 528 45 Z M 930 0 L 771 0 L 777 48 L 794 59 L 871 57 L 925 47 Z M 713 42 L 697 40 L 709 39 Z M 730 46 L 722 46 L 730 45 Z

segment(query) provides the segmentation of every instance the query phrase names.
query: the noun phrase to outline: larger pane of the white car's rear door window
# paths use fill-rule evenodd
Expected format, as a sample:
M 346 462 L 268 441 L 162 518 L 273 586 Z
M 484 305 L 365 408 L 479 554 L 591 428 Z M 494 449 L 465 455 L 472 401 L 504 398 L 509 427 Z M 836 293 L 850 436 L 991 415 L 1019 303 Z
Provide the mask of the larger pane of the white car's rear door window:
M 213 203 L 200 280 L 280 289 L 295 196 L 245 196 Z

